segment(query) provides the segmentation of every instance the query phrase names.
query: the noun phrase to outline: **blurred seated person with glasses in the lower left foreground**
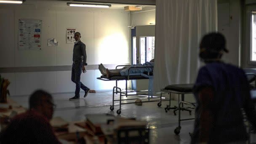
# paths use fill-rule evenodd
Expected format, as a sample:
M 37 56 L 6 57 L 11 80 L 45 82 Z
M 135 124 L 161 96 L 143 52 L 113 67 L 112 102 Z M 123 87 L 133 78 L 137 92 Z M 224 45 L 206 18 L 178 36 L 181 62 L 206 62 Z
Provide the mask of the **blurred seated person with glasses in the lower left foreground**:
M 13 117 L 0 133 L 1 144 L 59 144 L 49 121 L 56 105 L 50 93 L 37 90 L 29 97 L 27 112 Z

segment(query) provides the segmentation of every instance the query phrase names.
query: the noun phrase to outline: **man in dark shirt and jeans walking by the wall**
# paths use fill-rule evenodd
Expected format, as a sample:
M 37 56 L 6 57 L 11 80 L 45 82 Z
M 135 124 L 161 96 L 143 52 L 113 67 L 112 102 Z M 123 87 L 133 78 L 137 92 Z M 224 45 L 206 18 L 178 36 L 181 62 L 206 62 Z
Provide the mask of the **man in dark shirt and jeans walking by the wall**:
M 73 49 L 73 64 L 72 64 L 72 76 L 71 80 L 75 83 L 75 96 L 70 98 L 69 100 L 78 100 L 80 99 L 80 88 L 85 91 L 84 98 L 88 95 L 90 88 L 87 88 L 82 82 L 80 82 L 80 76 L 86 72 L 85 66 L 86 63 L 86 51 L 85 44 L 81 42 L 81 34 L 79 32 L 75 32 L 75 45 Z

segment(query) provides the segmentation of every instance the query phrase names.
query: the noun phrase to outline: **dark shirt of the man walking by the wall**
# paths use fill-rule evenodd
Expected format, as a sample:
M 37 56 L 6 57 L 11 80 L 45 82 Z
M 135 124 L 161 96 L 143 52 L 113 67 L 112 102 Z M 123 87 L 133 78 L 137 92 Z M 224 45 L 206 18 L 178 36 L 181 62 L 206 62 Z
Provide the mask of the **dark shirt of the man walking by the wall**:
M 74 45 L 73 49 L 73 61 L 82 61 L 83 65 L 87 65 L 86 63 L 86 51 L 85 51 L 85 44 L 79 41 L 77 44 Z

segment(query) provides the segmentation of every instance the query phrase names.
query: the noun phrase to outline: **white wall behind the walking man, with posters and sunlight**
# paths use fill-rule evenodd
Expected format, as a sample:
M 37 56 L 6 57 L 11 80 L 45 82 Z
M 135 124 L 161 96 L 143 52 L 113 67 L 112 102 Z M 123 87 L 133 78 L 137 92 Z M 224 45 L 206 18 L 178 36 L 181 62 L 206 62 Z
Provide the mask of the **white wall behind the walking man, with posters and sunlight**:
M 18 50 L 19 19 L 43 20 L 41 51 Z M 61 1 L 27 1 L 24 5 L 1 5 L 0 21 L 0 68 L 70 66 L 73 44 L 66 44 L 66 28 L 81 32 L 88 65 L 130 63 L 130 13 L 123 9 L 72 8 Z M 59 46 L 47 46 L 49 38 L 56 38 Z M 51 93 L 75 91 L 70 70 L 0 74 L 11 81 L 11 95 L 29 94 L 37 88 Z M 112 89 L 115 82 L 97 80 L 99 76 L 99 70 L 87 70 L 81 81 L 91 89 Z

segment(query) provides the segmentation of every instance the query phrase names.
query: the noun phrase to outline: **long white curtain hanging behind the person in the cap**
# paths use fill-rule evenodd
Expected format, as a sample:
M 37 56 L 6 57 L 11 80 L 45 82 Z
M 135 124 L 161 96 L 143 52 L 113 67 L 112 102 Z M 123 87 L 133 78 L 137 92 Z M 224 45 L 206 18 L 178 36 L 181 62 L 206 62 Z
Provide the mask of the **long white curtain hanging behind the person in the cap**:
M 199 43 L 217 30 L 217 0 L 156 0 L 154 91 L 194 83 Z

